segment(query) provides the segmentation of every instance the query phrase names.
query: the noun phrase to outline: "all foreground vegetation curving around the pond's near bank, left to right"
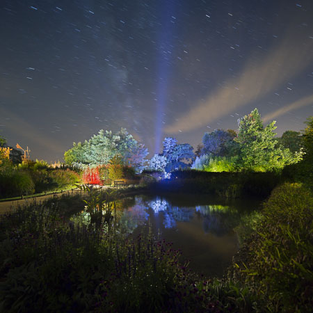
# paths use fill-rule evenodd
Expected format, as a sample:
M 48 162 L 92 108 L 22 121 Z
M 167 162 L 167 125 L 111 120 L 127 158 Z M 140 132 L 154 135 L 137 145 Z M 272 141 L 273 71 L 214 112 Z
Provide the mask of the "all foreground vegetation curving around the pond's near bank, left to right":
M 123 233 L 118 195 L 83 189 L 89 224 L 68 218 L 83 209 L 79 196 L 1 219 L 1 312 L 310 312 L 313 196 L 306 187 L 273 191 L 221 280 L 191 273 L 151 232 Z

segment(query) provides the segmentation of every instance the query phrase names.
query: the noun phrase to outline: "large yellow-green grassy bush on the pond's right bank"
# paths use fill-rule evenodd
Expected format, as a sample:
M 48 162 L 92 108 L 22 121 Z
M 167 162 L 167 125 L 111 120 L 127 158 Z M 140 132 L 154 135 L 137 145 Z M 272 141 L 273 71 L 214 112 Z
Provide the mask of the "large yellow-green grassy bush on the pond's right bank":
M 300 184 L 276 188 L 257 233 L 236 259 L 235 280 L 271 312 L 310 312 L 313 294 L 313 195 Z

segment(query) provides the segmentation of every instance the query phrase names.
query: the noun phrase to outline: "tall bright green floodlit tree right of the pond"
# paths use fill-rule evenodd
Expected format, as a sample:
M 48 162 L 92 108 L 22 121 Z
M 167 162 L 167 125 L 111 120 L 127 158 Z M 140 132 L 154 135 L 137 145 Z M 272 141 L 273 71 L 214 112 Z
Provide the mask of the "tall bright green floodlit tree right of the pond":
M 259 111 L 254 109 L 239 120 L 239 134 L 234 139 L 240 145 L 241 166 L 248 170 L 278 170 L 302 159 L 302 154 L 291 154 L 289 149 L 275 147 L 275 121 L 263 127 Z

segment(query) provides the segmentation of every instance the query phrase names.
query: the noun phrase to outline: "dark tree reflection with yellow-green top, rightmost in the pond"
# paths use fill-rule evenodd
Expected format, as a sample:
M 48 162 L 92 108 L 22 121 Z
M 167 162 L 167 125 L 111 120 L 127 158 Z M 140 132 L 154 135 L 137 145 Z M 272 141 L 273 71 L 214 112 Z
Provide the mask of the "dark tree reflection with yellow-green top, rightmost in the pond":
M 203 217 L 204 232 L 216 236 L 228 234 L 240 221 L 239 211 L 223 205 L 200 205 L 195 211 Z

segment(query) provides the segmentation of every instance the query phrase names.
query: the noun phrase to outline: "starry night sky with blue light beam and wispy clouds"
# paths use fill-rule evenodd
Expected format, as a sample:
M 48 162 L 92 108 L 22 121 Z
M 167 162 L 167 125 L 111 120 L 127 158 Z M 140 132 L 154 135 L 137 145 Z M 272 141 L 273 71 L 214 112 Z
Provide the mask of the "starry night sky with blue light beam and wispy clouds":
M 0 135 L 31 159 L 125 127 L 196 147 L 257 107 L 313 115 L 313 1 L 1 0 Z

